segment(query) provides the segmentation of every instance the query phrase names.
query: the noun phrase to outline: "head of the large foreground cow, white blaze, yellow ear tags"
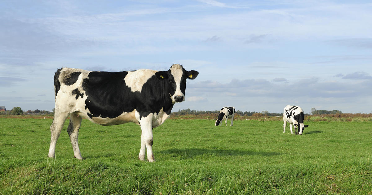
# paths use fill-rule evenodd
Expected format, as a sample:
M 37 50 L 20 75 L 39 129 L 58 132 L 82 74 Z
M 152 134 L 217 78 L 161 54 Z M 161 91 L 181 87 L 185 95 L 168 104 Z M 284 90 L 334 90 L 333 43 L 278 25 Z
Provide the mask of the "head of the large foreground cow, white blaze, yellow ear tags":
M 185 101 L 186 79 L 195 79 L 198 74 L 198 71 L 186 71 L 179 64 L 173 64 L 168 71 L 155 73 L 158 79 L 168 81 L 168 92 L 173 104 Z

